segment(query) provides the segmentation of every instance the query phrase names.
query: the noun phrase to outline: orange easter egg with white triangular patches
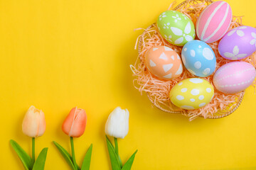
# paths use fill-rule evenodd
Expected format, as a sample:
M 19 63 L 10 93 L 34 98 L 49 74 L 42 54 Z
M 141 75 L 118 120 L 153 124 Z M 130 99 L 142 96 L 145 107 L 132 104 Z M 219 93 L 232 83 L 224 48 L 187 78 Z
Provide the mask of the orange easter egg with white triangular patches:
M 181 57 L 166 46 L 152 47 L 145 55 L 146 67 L 160 79 L 175 79 L 183 72 Z

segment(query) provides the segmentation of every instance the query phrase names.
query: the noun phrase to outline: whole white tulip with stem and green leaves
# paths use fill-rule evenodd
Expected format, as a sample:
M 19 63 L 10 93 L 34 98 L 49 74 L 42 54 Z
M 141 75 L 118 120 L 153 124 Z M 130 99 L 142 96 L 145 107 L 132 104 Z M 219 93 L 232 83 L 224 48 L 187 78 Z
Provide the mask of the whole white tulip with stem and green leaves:
M 121 158 L 118 153 L 118 142 L 117 138 L 124 138 L 129 130 L 129 111 L 127 109 L 123 110 L 117 107 L 110 113 L 107 123 L 105 125 L 105 133 L 114 137 L 114 145 L 110 142 L 106 135 L 107 149 L 110 154 L 110 161 L 112 170 L 128 170 L 132 169 L 132 163 L 134 162 L 135 154 L 137 150 L 132 154 L 128 161 L 123 165 Z

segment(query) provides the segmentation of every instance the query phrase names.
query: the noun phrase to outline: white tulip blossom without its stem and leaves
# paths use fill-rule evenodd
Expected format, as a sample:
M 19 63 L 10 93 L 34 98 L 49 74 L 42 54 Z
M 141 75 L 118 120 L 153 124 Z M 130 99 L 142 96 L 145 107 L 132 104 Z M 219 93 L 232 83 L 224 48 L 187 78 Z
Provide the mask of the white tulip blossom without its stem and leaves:
M 105 133 L 112 137 L 124 138 L 129 130 L 129 111 L 117 107 L 110 113 L 105 125 Z

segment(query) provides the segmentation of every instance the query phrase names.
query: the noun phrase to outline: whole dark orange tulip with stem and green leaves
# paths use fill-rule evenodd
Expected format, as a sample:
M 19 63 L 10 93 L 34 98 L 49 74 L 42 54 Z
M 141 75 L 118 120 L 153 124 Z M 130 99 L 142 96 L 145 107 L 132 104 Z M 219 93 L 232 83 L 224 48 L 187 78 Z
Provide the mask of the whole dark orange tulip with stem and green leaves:
M 72 108 L 68 116 L 65 118 L 62 130 L 63 132 L 70 137 L 70 145 L 71 145 L 71 152 L 72 157 L 70 154 L 68 154 L 68 151 L 66 151 L 63 147 L 61 147 L 57 142 L 53 141 L 54 145 L 57 147 L 57 149 L 60 151 L 60 153 L 65 158 L 66 162 L 70 165 L 70 168 L 73 170 L 79 170 L 80 167 L 76 163 L 75 160 L 75 147 L 74 147 L 74 141 L 73 137 L 80 137 L 85 132 L 87 122 L 87 115 L 85 113 L 85 110 L 82 108 Z M 67 155 L 68 154 L 68 155 Z M 67 156 L 71 159 L 67 159 Z M 92 145 L 90 145 L 89 149 L 87 150 L 85 154 L 84 161 L 82 162 L 81 170 L 83 169 L 90 169 L 90 159 L 92 156 Z

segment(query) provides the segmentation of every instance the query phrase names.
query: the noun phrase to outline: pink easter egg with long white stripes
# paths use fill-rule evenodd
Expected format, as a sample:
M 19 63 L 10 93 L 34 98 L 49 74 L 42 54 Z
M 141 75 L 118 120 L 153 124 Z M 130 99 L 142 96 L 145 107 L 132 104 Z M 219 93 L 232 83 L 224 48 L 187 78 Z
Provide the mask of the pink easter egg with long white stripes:
M 215 1 L 207 6 L 196 22 L 196 34 L 204 42 L 220 40 L 230 27 L 232 10 L 225 1 Z

